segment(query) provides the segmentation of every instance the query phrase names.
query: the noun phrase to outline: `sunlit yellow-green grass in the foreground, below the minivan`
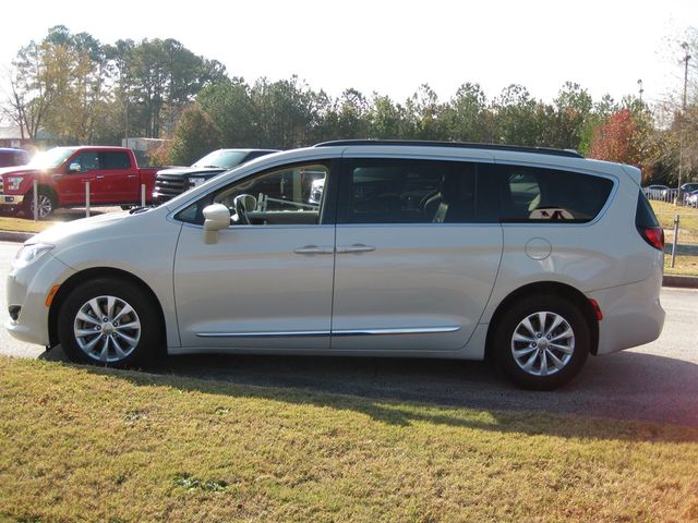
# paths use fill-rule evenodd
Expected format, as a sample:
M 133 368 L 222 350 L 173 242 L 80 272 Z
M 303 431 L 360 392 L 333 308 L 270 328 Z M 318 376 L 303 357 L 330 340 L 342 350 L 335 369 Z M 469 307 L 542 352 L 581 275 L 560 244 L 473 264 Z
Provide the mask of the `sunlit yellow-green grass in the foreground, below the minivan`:
M 0 357 L 0 521 L 696 520 L 695 427 Z

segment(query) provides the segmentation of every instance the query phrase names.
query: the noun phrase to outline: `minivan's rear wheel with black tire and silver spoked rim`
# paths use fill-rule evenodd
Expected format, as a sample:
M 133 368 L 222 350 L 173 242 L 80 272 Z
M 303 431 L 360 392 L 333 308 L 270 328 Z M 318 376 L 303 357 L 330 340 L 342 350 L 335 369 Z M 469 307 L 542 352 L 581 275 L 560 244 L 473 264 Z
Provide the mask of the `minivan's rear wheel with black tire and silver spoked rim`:
M 556 318 L 562 318 L 557 326 Z M 577 305 L 545 294 L 510 305 L 497 319 L 493 343 L 500 368 L 518 387 L 552 390 L 579 374 L 589 355 L 591 336 Z

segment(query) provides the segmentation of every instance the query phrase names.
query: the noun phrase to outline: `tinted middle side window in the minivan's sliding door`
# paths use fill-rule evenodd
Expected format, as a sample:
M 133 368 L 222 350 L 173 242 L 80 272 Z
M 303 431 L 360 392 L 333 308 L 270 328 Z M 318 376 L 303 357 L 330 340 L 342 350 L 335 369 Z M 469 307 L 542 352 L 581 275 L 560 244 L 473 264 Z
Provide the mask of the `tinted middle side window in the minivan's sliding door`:
M 478 165 L 465 161 L 351 159 L 339 191 L 339 223 L 473 223 L 483 208 Z

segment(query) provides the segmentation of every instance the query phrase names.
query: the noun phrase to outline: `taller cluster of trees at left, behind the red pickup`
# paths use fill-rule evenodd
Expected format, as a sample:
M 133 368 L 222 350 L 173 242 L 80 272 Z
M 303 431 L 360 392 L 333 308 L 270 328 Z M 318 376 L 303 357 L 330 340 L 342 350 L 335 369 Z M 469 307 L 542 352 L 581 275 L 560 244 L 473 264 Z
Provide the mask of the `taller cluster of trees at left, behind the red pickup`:
M 171 38 L 104 45 L 59 25 L 22 47 L 7 76 L 1 110 L 22 137 L 107 144 L 167 135 L 226 69 Z

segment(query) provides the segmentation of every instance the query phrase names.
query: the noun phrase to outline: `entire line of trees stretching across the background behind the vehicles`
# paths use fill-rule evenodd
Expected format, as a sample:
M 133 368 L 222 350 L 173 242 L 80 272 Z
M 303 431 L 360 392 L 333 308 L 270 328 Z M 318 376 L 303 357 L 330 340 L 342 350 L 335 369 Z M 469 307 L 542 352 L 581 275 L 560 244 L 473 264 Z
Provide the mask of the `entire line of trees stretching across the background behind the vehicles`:
M 697 56 L 698 39 L 690 45 Z M 443 139 L 576 149 L 673 183 L 683 129 L 684 177 L 698 174 L 693 72 L 686 111 L 675 104 L 649 107 L 634 95 L 594 100 L 574 83 L 551 102 L 516 84 L 488 98 L 477 83 L 462 84 L 448 100 L 429 84 L 402 101 L 353 88 L 332 97 L 297 76 L 248 83 L 174 39 L 103 45 L 57 26 L 17 51 L 5 84 L 2 114 L 27 137 L 105 145 L 124 136 L 171 138 L 156 155 L 163 163 L 188 165 L 217 147 Z

